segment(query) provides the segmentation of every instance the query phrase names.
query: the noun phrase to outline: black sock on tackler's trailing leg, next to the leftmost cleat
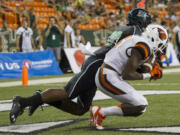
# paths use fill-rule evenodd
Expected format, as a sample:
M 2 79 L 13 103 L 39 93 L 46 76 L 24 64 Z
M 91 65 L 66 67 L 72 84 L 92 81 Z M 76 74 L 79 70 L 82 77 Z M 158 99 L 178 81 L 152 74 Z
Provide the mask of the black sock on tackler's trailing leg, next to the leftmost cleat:
M 22 98 L 20 100 L 20 104 L 22 105 L 22 107 L 42 105 L 43 101 L 41 99 L 41 94 L 38 93 L 36 95 L 33 95 L 32 97 Z

